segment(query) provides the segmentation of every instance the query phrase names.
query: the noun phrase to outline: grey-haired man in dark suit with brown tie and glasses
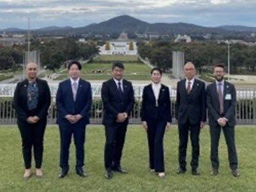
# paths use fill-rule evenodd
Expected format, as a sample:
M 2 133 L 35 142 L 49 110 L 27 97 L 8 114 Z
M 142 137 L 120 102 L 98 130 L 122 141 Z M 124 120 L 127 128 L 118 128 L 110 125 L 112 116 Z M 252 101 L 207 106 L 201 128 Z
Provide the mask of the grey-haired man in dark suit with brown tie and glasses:
M 199 133 L 206 121 L 205 84 L 195 79 L 195 66 L 187 62 L 184 66 L 186 79 L 177 83 L 176 119 L 179 127 L 179 169 L 177 174 L 186 172 L 186 148 L 188 135 L 192 143 L 192 175 L 199 175 Z

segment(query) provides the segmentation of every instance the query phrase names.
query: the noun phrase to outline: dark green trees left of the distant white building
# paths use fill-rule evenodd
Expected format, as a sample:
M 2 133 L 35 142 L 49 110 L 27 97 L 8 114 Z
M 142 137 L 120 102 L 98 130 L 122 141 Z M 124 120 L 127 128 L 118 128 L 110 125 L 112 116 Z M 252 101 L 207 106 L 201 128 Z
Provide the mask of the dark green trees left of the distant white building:
M 55 71 L 72 59 L 90 59 L 99 53 L 97 44 L 94 41 L 79 43 L 72 39 L 59 39 L 39 41 L 32 39 L 30 50 L 40 52 L 41 66 L 48 70 Z M 23 64 L 23 55 L 26 52 L 26 45 L 1 46 L 0 45 L 0 70 L 17 69 Z

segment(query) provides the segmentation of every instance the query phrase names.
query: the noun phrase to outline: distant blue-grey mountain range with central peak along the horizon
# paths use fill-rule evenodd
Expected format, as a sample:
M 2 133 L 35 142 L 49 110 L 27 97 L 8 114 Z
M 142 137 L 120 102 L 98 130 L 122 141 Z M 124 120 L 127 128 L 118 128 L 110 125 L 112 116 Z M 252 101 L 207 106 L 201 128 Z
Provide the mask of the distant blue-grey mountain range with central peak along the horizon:
M 26 32 L 19 28 L 8 28 L 6 32 Z M 84 33 L 108 33 L 119 34 L 121 32 L 128 33 L 157 33 L 157 34 L 188 34 L 188 35 L 202 35 L 202 34 L 224 34 L 229 35 L 237 33 L 256 32 L 256 27 L 250 26 L 218 26 L 205 27 L 189 23 L 147 23 L 129 15 L 121 15 L 114 17 L 101 23 L 92 23 L 87 26 L 72 28 L 71 26 L 48 26 L 32 30 L 42 34 L 84 34 Z

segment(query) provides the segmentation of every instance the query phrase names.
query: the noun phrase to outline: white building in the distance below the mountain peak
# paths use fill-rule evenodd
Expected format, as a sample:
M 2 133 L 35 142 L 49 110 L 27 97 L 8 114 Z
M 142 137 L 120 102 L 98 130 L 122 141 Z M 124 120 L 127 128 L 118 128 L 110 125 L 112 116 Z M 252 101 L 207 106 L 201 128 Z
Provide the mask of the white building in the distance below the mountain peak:
M 106 42 L 99 47 L 100 55 L 137 55 L 136 42 L 128 39 L 128 35 L 122 32 L 117 40 Z

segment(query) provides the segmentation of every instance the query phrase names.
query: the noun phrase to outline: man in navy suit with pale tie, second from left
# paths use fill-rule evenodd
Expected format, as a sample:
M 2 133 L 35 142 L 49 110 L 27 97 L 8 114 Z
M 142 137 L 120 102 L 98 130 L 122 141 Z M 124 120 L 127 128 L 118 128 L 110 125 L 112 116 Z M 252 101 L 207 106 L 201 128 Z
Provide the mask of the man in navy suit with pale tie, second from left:
M 56 96 L 57 124 L 61 135 L 61 173 L 63 178 L 68 173 L 68 155 L 72 135 L 74 135 L 77 175 L 86 177 L 84 166 L 84 140 L 86 125 L 90 123 L 89 113 L 92 104 L 92 90 L 90 82 L 80 78 L 82 66 L 77 61 L 68 64 L 67 79 L 59 84 Z

